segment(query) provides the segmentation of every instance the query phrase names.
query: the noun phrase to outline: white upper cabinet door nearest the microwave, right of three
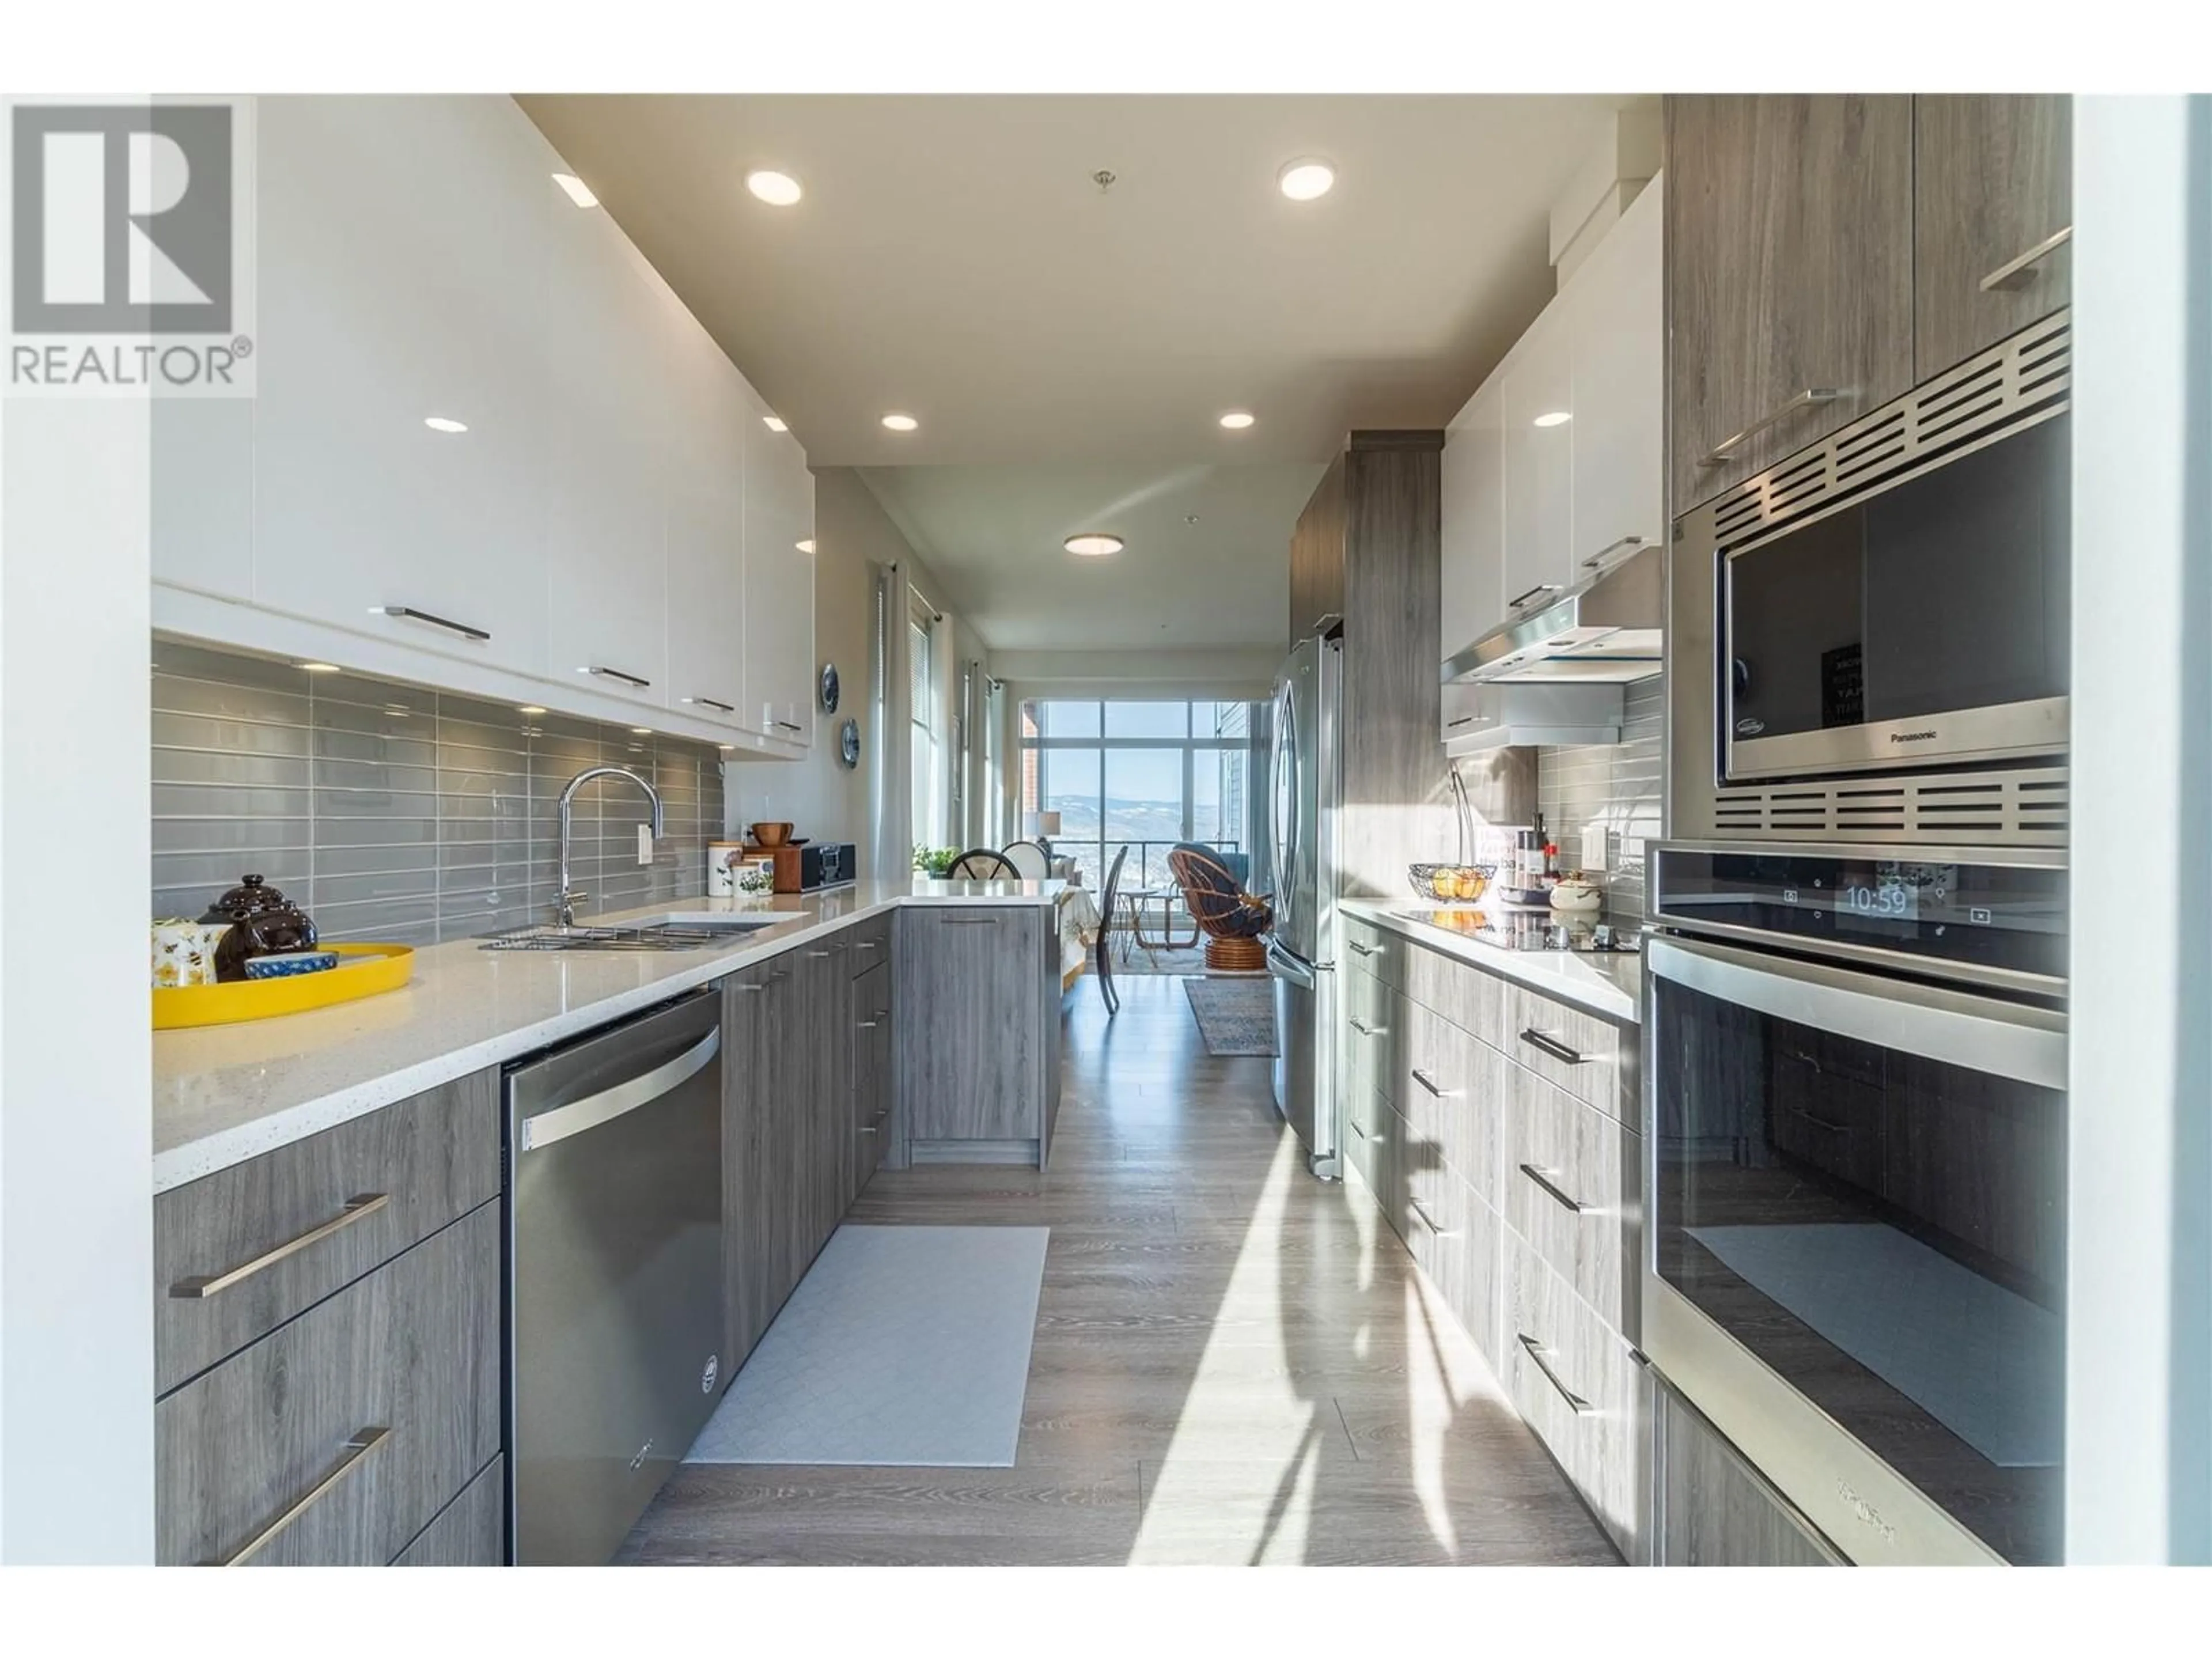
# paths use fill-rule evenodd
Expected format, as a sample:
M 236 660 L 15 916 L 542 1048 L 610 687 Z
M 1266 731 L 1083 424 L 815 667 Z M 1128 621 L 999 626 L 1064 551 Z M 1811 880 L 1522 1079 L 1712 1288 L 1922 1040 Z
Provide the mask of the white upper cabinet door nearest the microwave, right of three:
M 1590 250 L 1575 307 L 1575 580 L 1666 540 L 1666 352 L 1652 179 Z

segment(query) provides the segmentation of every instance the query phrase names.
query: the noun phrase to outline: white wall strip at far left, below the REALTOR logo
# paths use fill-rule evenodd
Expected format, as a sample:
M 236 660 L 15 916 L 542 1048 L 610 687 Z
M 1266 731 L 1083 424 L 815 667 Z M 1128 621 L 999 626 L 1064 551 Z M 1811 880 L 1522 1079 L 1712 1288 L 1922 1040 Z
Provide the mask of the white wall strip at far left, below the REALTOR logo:
M 148 405 L 0 405 L 0 1562 L 150 1562 Z

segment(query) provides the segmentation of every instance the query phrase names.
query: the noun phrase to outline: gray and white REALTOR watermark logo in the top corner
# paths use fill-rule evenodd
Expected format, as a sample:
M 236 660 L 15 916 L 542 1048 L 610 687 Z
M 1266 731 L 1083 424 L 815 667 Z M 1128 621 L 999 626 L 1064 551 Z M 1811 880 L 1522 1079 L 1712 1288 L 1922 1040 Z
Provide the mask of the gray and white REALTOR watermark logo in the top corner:
M 13 102 L 11 394 L 252 394 L 250 100 Z

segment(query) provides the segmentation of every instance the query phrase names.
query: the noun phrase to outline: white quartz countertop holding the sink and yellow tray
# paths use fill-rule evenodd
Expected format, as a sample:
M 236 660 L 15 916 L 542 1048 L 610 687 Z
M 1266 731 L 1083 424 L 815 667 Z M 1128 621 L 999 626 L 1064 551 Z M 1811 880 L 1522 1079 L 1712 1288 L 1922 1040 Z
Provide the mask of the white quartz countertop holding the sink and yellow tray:
M 416 951 L 400 991 L 153 1040 L 153 1190 L 197 1181 L 453 1077 L 566 1042 L 900 905 L 1057 905 L 1060 880 L 889 880 L 774 898 L 679 898 L 586 922 L 774 916 L 697 951 Z

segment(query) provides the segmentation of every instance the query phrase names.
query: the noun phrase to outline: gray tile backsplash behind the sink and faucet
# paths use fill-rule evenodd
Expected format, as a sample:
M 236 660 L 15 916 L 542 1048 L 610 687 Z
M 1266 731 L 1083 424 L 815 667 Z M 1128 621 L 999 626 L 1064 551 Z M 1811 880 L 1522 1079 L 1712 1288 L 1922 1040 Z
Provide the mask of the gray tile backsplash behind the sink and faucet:
M 553 803 L 602 761 L 653 779 L 666 836 L 639 865 L 644 796 L 588 785 L 575 803 L 580 909 L 697 896 L 706 843 L 723 832 L 710 743 L 155 639 L 153 914 L 199 916 L 259 872 L 327 940 L 436 945 L 546 920 Z

